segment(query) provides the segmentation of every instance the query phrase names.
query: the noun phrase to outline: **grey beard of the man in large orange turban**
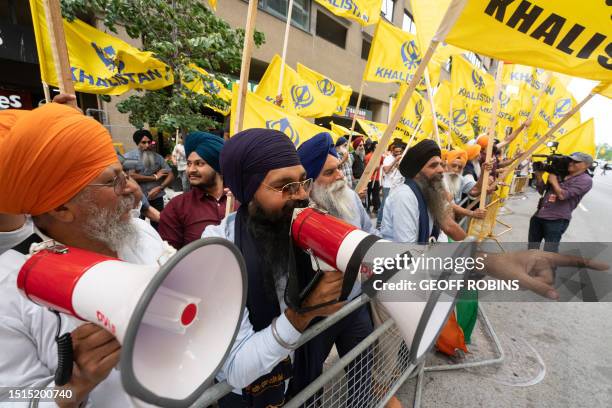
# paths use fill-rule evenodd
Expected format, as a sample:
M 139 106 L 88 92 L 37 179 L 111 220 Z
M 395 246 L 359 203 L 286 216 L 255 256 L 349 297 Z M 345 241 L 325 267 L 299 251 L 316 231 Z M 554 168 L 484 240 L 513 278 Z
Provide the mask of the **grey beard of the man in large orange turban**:
M 88 197 L 87 197 L 88 198 Z M 83 223 L 84 234 L 98 242 L 102 242 L 112 251 L 119 251 L 126 242 L 136 235 L 136 227 L 131 218 L 122 221 L 121 216 L 134 205 L 133 196 L 121 197 L 116 209 L 98 207 L 92 200 L 85 198 L 87 203 L 87 219 Z

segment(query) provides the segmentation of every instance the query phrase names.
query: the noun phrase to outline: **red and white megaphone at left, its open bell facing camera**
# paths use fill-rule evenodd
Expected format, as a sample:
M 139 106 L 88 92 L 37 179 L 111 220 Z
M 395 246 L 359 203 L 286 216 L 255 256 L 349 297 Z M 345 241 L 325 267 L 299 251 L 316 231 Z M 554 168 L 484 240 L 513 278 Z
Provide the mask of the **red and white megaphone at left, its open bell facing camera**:
M 17 286 L 35 303 L 113 333 L 128 394 L 186 407 L 211 385 L 231 349 L 247 280 L 236 246 L 206 238 L 161 267 L 73 247 L 45 249 L 23 265 Z

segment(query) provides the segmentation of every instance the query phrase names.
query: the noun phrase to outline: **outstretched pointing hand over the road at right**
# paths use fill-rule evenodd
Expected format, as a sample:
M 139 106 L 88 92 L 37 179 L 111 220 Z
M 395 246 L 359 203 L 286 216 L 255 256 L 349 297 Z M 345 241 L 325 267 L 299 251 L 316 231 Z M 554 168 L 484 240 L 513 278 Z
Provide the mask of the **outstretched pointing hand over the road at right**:
M 559 299 L 559 293 L 552 287 L 555 267 L 575 266 L 597 271 L 610 268 L 603 262 L 538 250 L 489 254 L 484 264 L 487 275 L 501 280 L 516 279 L 522 288 L 553 300 Z

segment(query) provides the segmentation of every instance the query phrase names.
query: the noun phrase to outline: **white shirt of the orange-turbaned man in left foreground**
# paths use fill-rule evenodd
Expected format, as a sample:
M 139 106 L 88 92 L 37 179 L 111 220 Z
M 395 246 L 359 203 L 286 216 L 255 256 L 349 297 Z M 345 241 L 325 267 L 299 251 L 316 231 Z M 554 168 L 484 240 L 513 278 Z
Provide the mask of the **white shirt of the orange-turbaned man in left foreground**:
M 132 219 L 138 228 L 135 239 L 118 251 L 127 262 L 154 264 L 164 253 L 164 244 L 157 232 L 145 221 Z M 37 231 L 38 232 L 38 231 Z M 57 367 L 55 331 L 57 318 L 22 296 L 17 290 L 17 275 L 26 257 L 13 250 L 0 255 L 0 386 L 54 387 Z M 75 319 L 62 316 L 62 331 L 76 328 Z M 7 395 L 0 394 L 0 400 Z M 141 405 L 145 405 L 139 402 Z M 0 402 L 0 407 L 27 407 L 29 402 Z M 53 402 L 40 402 L 39 407 L 55 407 Z M 110 375 L 89 394 L 87 407 L 132 407 L 121 385 L 119 371 Z

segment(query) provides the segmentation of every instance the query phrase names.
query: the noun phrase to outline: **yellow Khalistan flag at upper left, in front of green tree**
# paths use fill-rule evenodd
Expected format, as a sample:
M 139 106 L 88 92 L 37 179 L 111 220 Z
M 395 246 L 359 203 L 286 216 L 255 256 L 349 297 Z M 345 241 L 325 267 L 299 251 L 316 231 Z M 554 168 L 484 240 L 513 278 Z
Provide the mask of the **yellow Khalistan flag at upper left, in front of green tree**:
M 58 86 L 47 19 L 42 0 L 30 0 L 40 74 Z M 108 35 L 81 20 L 64 19 L 66 45 L 74 87 L 79 92 L 120 95 L 130 89 L 161 89 L 172 85 L 170 67 L 125 41 Z

